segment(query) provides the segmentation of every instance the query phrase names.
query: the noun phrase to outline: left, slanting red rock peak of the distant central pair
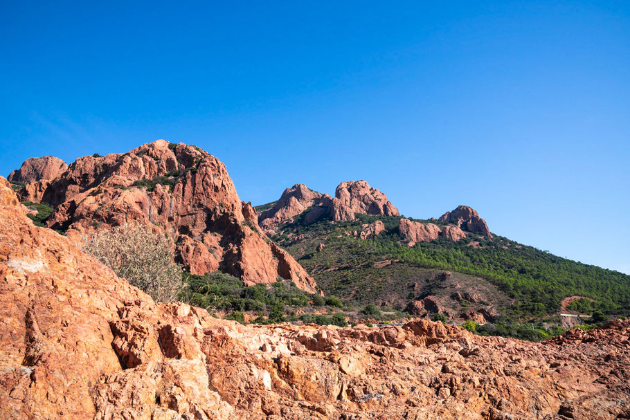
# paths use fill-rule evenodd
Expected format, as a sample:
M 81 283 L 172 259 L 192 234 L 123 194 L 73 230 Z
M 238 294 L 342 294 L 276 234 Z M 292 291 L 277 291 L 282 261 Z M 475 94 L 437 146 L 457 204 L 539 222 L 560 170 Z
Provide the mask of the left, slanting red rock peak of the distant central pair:
M 317 204 L 321 197 L 322 194 L 309 190 L 306 185 L 296 184 L 282 192 L 282 196 L 272 208 L 260 213 L 258 223 L 265 230 L 272 230 L 280 223 L 289 221 L 307 208 Z

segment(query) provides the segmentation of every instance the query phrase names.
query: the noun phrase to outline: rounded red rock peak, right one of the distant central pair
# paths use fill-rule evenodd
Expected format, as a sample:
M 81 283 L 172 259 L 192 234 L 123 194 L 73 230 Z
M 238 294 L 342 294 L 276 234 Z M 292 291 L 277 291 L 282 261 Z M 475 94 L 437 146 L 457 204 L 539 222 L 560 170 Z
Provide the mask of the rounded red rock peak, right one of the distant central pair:
M 306 223 L 316 221 L 323 214 L 327 214 L 333 221 L 352 221 L 354 213 L 399 215 L 398 209 L 390 203 L 386 195 L 370 187 L 366 181 L 342 182 L 337 186 L 334 198 L 323 195 L 316 204 L 319 206 L 305 215 Z

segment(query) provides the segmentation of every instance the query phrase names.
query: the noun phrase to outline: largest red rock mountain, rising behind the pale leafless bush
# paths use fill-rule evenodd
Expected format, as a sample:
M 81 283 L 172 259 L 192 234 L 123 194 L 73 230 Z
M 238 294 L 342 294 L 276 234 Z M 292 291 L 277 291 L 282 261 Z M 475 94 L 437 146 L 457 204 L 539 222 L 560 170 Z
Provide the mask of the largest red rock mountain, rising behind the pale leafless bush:
M 247 285 L 282 277 L 316 291 L 312 277 L 260 232 L 225 165 L 199 147 L 157 140 L 125 154 L 84 156 L 37 195 L 55 208 L 48 227 L 89 232 L 137 220 L 172 239 L 192 273 L 220 269 Z

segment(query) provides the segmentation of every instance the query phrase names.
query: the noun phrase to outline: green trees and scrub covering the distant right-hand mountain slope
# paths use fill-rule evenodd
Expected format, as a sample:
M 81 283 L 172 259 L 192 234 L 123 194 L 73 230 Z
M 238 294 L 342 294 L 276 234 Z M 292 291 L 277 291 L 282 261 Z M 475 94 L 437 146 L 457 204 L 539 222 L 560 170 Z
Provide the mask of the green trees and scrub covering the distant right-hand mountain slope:
M 303 216 L 302 216 L 303 217 Z M 397 284 L 422 277 L 429 271 L 448 270 L 482 277 L 514 300 L 500 308 L 510 322 L 521 318 L 544 318 L 560 309 L 562 299 L 571 295 L 592 298 L 573 302 L 570 309 L 584 313 L 602 311 L 607 316 L 630 312 L 630 276 L 597 266 L 573 262 L 505 237 L 492 240 L 469 234 L 457 242 L 436 239 L 409 248 L 398 232 L 399 217 L 357 214 L 352 222 L 323 220 L 305 225 L 302 217 L 281 227 L 273 239 L 284 246 L 298 262 L 314 273 L 325 293 L 334 293 L 358 302 L 375 302 L 392 293 Z M 386 231 L 374 239 L 352 235 L 361 224 L 383 221 Z M 304 235 L 293 244 L 289 238 Z M 325 241 L 326 247 L 315 252 Z M 385 268 L 375 262 L 396 262 Z M 388 279 L 388 282 L 382 281 Z M 402 286 L 400 286 L 402 293 Z M 408 293 L 408 292 L 407 292 Z

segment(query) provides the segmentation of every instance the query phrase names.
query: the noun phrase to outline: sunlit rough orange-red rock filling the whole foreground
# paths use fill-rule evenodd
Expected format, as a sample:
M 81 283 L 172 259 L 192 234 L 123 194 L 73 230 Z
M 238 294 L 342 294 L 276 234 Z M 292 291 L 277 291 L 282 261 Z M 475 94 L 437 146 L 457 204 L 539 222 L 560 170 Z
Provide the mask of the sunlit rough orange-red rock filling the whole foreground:
M 0 419 L 630 418 L 630 321 L 543 343 L 243 326 L 156 304 L 34 226 L 4 179 L 0 237 Z

